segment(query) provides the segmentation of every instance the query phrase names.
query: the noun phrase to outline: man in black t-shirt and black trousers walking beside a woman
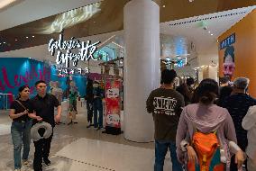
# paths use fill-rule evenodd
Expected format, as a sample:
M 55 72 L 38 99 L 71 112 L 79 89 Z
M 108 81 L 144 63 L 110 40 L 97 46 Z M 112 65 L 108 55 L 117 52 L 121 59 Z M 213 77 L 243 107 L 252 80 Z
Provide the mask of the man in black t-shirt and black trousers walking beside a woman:
M 58 123 L 61 117 L 61 106 L 58 99 L 51 94 L 46 94 L 47 85 L 44 81 L 40 80 L 35 83 L 37 90 L 37 95 L 32 98 L 32 108 L 34 113 L 29 114 L 29 116 L 34 119 L 32 124 L 36 124 L 38 121 L 46 121 L 50 123 L 52 129 L 55 123 Z M 57 115 L 54 116 L 54 107 L 57 107 Z M 39 133 L 42 136 L 44 129 L 40 129 Z M 46 165 L 50 165 L 49 153 L 50 153 L 50 142 L 53 136 L 53 131 L 48 139 L 40 139 L 34 141 L 34 160 L 33 169 L 35 171 L 41 171 L 42 159 Z

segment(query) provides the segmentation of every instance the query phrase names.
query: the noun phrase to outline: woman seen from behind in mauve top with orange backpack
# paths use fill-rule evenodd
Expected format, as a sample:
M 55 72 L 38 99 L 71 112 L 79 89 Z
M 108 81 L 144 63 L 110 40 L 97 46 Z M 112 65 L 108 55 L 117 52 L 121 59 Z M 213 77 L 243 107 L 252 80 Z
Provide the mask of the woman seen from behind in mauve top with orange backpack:
M 215 164 L 214 166 L 224 166 L 229 170 L 229 151 L 231 151 L 235 154 L 237 167 L 242 167 L 245 158 L 242 149 L 236 145 L 233 120 L 226 109 L 214 104 L 218 90 L 218 84 L 214 79 L 204 79 L 197 87 L 198 103 L 188 104 L 181 113 L 176 144 L 178 160 L 183 164 L 197 163 L 206 166 L 208 170 L 210 166 L 207 164 L 210 163 Z M 211 144 L 213 146 L 209 147 Z M 207 151 L 208 148 L 212 150 Z M 211 157 L 214 155 L 215 157 Z M 211 160 L 213 158 L 214 161 Z

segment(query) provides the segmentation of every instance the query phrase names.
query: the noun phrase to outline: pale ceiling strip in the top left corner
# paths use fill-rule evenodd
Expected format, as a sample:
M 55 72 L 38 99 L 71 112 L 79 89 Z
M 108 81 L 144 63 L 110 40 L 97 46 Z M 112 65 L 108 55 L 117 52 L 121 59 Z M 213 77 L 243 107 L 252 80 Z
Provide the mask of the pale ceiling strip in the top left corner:
M 99 1 L 101 0 L 18 0 L 0 11 L 0 31 Z

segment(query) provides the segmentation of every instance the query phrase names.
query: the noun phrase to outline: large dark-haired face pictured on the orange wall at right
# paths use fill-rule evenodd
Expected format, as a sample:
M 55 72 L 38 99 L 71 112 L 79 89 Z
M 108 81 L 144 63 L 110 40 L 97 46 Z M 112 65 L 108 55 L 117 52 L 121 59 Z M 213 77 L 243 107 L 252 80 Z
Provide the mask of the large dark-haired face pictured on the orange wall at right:
M 233 46 L 228 46 L 224 50 L 224 64 L 223 64 L 223 74 L 225 77 L 232 79 L 233 72 L 235 69 L 234 65 L 234 48 Z

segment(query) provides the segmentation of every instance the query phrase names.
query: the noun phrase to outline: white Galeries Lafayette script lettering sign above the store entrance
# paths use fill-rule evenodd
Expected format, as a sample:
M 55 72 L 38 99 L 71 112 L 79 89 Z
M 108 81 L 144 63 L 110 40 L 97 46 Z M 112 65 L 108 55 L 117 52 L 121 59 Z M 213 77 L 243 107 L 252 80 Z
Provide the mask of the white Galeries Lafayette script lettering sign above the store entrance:
M 57 51 L 57 64 L 65 64 L 65 67 L 69 67 L 70 61 L 73 61 L 73 66 L 78 66 L 78 60 L 85 61 L 88 59 L 97 60 L 94 57 L 97 46 L 100 41 L 92 43 L 91 40 L 80 41 L 72 37 L 70 40 L 64 40 L 63 34 L 59 34 L 59 40 L 51 39 L 48 44 L 48 50 L 52 56 Z M 78 49 L 79 53 L 73 53 L 72 49 Z

